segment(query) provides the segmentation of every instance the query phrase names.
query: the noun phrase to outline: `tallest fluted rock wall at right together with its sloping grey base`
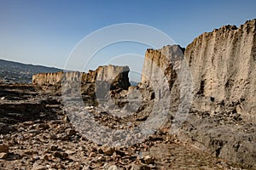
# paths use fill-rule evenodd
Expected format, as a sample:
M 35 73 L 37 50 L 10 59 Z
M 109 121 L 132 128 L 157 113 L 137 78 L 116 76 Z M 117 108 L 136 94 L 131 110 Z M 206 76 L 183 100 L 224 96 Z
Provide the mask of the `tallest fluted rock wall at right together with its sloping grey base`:
M 256 20 L 202 34 L 185 59 L 194 94 L 187 136 L 216 156 L 256 168 Z

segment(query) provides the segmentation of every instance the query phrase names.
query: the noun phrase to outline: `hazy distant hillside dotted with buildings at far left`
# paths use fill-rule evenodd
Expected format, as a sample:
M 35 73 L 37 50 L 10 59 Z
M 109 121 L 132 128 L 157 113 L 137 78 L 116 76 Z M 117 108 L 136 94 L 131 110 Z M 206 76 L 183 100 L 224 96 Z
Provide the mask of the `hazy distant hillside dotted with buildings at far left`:
M 0 82 L 32 82 L 33 74 L 57 71 L 61 69 L 0 59 Z

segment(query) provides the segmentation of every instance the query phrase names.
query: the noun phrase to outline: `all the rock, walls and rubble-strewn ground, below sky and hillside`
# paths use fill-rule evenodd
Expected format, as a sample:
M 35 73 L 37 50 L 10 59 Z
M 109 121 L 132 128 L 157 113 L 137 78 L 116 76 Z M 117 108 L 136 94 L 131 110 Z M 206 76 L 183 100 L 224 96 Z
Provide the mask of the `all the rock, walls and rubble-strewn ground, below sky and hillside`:
M 0 168 L 256 169 L 255 22 L 148 49 L 137 87 L 113 65 L 0 85 Z

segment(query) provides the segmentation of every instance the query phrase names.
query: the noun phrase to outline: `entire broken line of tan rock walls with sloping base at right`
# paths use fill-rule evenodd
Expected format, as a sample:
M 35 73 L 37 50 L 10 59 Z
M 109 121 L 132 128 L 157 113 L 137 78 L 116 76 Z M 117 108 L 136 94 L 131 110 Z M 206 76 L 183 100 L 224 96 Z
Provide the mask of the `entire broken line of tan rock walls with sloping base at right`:
M 255 33 L 256 20 L 250 20 L 239 28 L 223 26 L 204 33 L 185 50 L 178 45 L 148 49 L 142 82 L 137 87 L 128 88 L 128 67 L 113 65 L 89 73 L 38 74 L 33 83 L 55 85 L 65 75 L 67 82 L 81 80 L 86 87 L 83 98 L 92 89 L 96 99 L 104 98 L 109 89 L 114 89 L 110 93 L 116 99 L 113 105 L 118 102 L 119 107 L 130 109 L 131 114 L 135 112 L 131 117 L 137 117 L 137 122 L 152 120 L 151 127 L 155 130 L 158 124 L 165 124 L 159 119 L 167 117 L 169 122 L 161 130 L 171 129 L 172 133 L 176 127 L 177 138 L 183 142 L 242 167 L 256 169 Z M 67 85 L 67 91 L 77 88 Z M 102 108 L 113 111 L 106 105 Z

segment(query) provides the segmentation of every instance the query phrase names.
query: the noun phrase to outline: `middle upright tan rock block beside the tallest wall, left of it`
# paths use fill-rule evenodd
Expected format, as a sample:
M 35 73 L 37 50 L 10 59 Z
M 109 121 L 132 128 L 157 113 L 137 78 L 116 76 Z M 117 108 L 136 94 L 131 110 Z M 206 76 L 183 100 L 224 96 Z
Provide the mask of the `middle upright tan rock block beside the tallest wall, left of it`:
M 139 84 L 144 98 L 162 99 L 170 96 L 172 86 L 177 80 L 177 69 L 183 60 L 184 48 L 167 45 L 161 49 L 147 49 L 143 64 L 142 81 Z M 150 89 L 151 88 L 151 89 Z

